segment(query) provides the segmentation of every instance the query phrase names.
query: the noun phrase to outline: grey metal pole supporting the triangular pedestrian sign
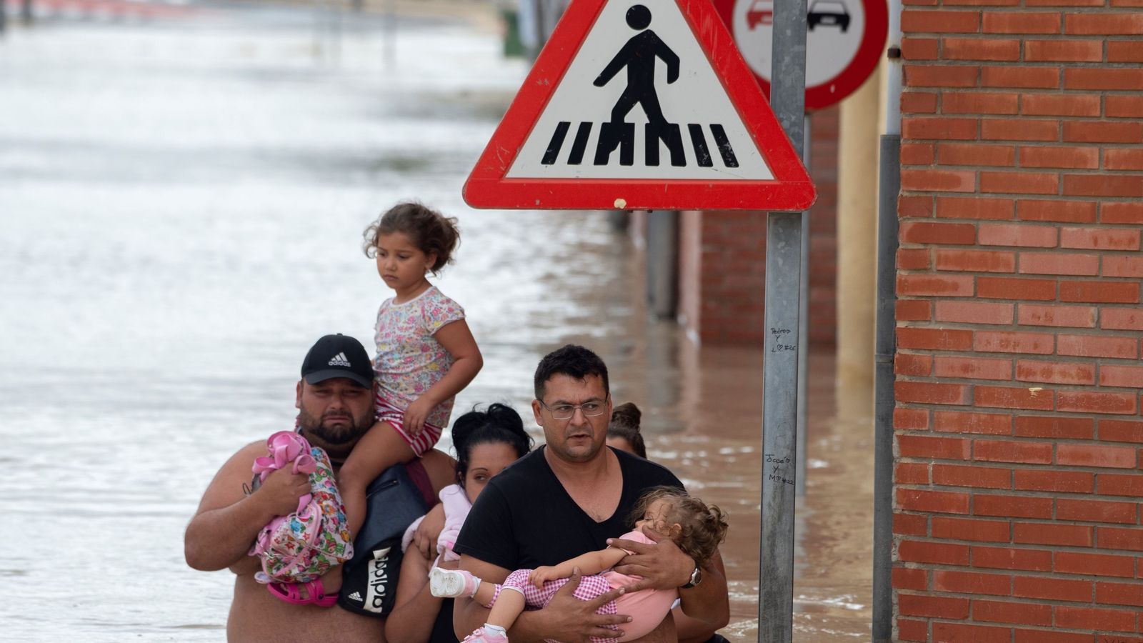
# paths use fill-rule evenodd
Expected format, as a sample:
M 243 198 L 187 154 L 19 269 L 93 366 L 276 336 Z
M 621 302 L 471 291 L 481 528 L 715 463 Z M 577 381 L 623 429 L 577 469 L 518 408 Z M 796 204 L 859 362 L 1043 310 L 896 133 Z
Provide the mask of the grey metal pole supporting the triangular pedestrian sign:
M 774 3 L 770 104 L 798 153 L 805 142 L 806 0 Z M 758 637 L 793 641 L 793 515 L 797 498 L 801 225 L 805 213 L 766 223 L 766 341 L 762 391 L 762 516 Z

